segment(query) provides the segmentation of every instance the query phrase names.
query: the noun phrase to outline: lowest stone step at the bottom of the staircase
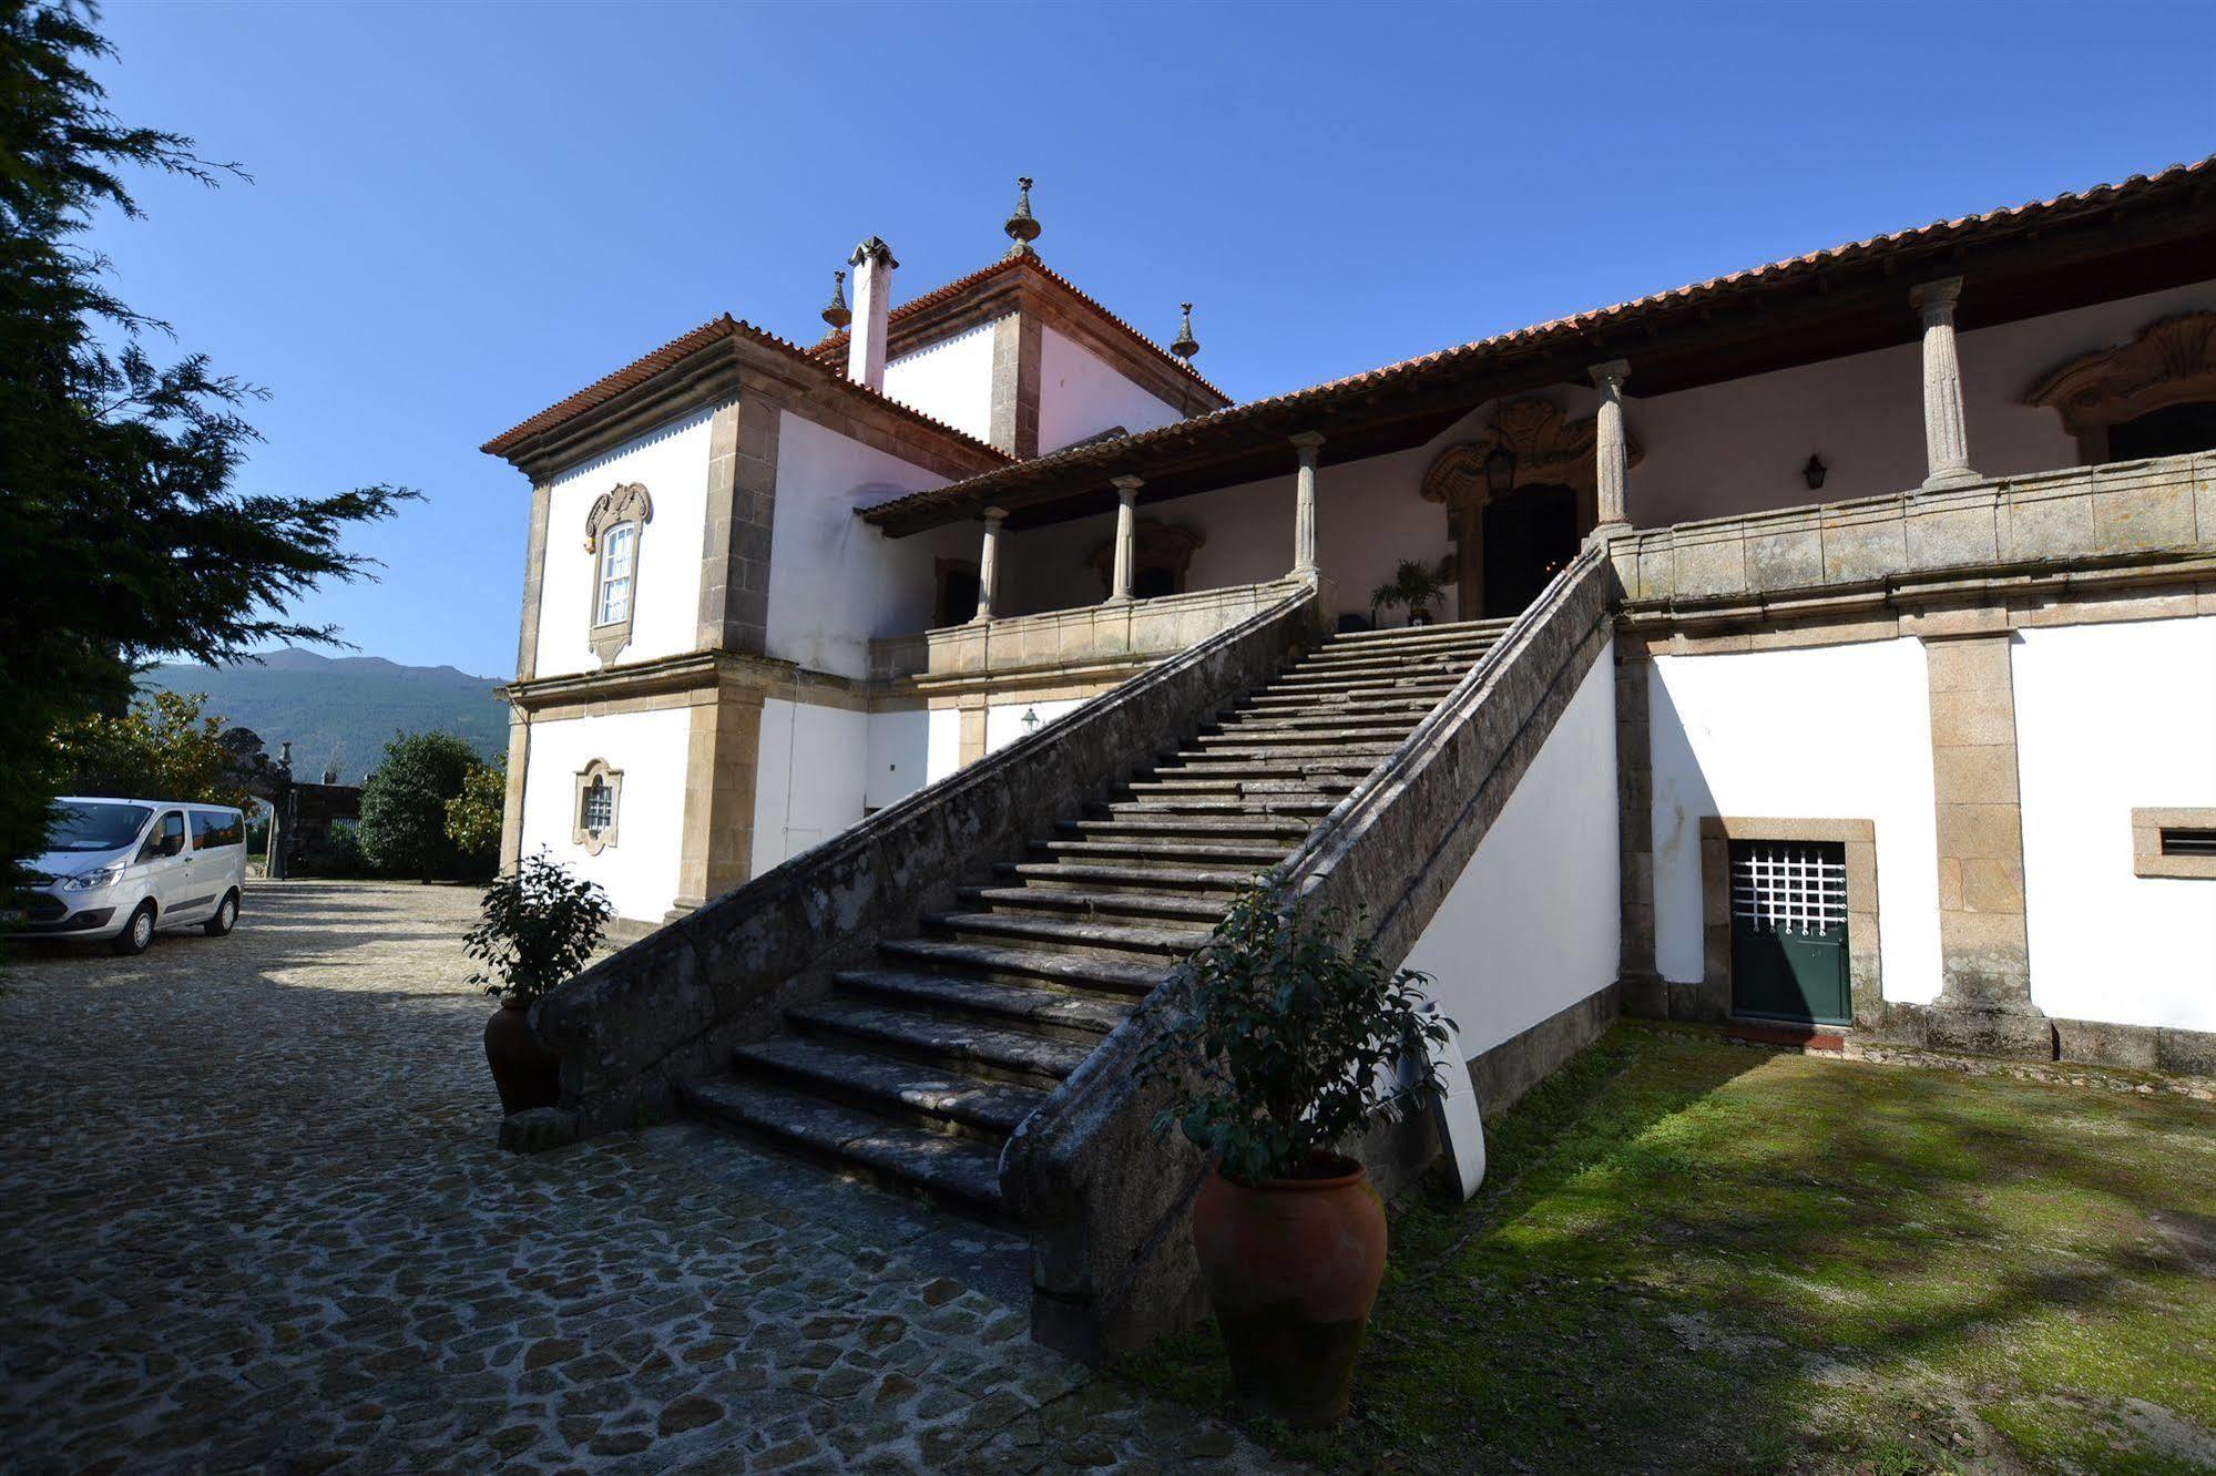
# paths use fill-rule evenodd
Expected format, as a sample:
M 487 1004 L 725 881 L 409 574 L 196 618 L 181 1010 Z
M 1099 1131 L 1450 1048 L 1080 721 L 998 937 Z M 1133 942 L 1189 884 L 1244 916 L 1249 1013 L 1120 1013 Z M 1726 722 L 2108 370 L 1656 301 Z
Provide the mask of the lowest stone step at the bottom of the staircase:
M 773 1139 L 815 1161 L 988 1221 L 1006 1219 L 999 1144 L 926 1132 L 840 1101 L 736 1077 L 687 1082 L 678 1099 L 716 1126 Z

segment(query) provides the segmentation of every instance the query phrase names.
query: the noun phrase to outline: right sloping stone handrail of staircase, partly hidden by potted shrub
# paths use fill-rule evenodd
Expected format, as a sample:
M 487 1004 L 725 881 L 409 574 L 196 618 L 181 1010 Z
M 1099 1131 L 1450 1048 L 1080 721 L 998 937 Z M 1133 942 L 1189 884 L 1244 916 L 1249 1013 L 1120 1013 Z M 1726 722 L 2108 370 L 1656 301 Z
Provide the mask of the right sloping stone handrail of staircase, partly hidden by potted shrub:
M 1609 601 L 1607 556 L 1587 550 L 1279 875 L 1350 915 L 1367 906 L 1387 964 L 1407 957 L 1607 645 Z M 1002 1152 L 1002 1195 L 1033 1239 L 1033 1336 L 1079 1359 L 1199 1312 L 1186 1212 L 1201 1155 L 1155 1137 L 1163 1093 L 1137 1079 L 1181 995 L 1177 977 L 1148 995 Z

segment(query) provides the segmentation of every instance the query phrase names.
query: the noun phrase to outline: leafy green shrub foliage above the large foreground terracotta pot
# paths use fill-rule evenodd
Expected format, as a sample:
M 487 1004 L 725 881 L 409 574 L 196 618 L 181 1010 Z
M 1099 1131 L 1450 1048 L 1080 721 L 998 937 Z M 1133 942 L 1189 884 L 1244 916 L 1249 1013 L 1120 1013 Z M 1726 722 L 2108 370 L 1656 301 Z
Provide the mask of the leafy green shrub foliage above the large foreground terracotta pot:
M 1449 1022 L 1427 1008 L 1429 977 L 1392 973 L 1361 922 L 1312 915 L 1274 880 L 1232 898 L 1141 1066 L 1172 1097 L 1157 1135 L 1183 1128 L 1234 1179 L 1285 1179 L 1438 1086 L 1429 1044 Z

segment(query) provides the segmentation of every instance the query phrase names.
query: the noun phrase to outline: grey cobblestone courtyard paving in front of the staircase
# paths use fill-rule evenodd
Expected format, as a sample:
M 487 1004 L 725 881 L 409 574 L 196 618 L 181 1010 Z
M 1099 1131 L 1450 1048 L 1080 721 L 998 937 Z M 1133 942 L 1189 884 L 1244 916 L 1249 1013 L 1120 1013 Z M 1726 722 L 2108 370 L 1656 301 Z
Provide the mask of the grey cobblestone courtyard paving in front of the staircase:
M 284 882 L 0 986 L 0 1465 L 1263 1469 L 1022 1246 L 691 1124 L 514 1157 L 474 893 Z

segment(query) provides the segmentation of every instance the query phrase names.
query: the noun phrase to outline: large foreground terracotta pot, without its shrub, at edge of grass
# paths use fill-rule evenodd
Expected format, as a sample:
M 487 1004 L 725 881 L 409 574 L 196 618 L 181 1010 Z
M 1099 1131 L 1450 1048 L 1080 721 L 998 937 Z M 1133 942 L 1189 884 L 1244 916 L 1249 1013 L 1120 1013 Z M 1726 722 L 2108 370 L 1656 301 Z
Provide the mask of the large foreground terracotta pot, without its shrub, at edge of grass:
M 1385 1277 L 1385 1208 L 1354 1159 L 1243 1183 L 1210 1170 L 1192 1246 L 1239 1398 L 1316 1429 L 1347 1414 L 1354 1354 Z

